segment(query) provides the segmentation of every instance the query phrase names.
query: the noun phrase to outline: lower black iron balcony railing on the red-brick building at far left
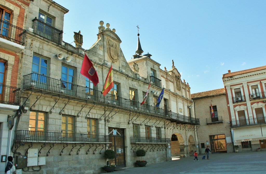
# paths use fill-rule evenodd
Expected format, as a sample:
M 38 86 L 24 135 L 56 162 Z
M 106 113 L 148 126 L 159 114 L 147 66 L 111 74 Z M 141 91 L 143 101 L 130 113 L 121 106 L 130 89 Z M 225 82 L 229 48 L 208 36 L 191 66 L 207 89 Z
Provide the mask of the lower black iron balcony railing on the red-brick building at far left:
M 19 105 L 20 88 L 0 84 L 0 103 Z

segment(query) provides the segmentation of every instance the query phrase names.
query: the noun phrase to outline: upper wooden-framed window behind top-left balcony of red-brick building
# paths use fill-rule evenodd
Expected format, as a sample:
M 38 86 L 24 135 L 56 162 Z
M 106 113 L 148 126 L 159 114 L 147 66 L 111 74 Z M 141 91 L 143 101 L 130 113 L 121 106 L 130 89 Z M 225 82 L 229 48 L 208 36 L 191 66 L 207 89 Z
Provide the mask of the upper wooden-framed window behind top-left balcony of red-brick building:
M 10 25 L 12 12 L 0 7 L 0 34 L 6 37 L 10 36 Z

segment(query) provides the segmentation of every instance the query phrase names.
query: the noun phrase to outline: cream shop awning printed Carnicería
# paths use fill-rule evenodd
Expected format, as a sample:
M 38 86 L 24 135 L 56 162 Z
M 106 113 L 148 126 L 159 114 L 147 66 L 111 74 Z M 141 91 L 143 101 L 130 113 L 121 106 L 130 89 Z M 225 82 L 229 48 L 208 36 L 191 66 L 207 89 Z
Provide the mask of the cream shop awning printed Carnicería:
M 234 129 L 234 142 L 266 139 L 266 126 Z M 263 132 L 263 133 L 262 133 Z M 264 134 L 264 135 L 263 135 Z

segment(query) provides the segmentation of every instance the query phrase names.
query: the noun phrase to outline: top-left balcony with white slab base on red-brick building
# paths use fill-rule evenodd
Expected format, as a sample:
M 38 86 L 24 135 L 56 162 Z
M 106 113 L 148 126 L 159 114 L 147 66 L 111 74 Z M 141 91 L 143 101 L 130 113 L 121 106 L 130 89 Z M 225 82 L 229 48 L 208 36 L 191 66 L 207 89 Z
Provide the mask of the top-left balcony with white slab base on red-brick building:
M 0 20 L 0 45 L 2 48 L 20 52 L 25 48 L 26 30 L 11 24 L 7 20 Z

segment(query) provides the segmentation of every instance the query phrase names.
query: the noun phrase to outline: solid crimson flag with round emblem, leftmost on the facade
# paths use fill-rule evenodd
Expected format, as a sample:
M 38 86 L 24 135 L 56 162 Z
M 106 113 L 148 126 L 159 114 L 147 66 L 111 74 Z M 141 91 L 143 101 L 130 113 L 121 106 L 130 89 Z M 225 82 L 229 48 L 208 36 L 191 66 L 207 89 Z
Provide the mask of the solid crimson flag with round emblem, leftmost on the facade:
M 87 77 L 88 79 L 90 79 L 90 81 L 92 81 L 94 86 L 96 86 L 99 83 L 98 74 L 87 54 L 84 55 L 80 73 L 85 77 Z

